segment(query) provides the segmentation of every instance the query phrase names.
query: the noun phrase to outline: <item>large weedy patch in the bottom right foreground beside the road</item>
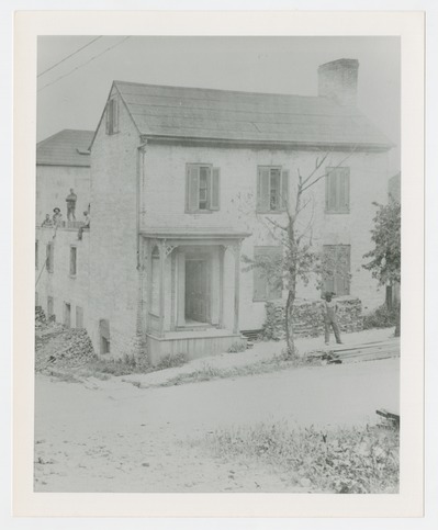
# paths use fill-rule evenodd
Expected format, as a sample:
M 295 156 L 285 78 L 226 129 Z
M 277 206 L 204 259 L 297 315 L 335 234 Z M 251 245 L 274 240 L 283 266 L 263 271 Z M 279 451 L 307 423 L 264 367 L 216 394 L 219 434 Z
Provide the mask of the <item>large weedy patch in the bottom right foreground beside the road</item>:
M 323 433 L 288 424 L 220 430 L 201 441 L 217 458 L 256 460 L 292 484 L 323 493 L 398 492 L 400 438 L 395 429 L 363 427 Z

